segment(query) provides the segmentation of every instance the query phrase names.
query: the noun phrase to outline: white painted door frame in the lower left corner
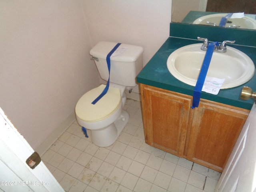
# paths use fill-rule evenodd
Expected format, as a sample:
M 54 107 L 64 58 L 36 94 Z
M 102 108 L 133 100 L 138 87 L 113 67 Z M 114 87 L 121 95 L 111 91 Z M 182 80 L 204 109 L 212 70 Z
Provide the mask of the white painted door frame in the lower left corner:
M 64 192 L 43 162 L 26 164 L 33 152 L 0 108 L 0 192 Z

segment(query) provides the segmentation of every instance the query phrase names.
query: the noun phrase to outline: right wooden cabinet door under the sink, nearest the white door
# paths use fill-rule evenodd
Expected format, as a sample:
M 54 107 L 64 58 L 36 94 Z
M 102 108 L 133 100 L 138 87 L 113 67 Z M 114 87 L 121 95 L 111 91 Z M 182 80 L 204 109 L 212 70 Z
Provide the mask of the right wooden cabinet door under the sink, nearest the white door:
M 203 100 L 194 110 L 187 158 L 222 172 L 248 110 Z

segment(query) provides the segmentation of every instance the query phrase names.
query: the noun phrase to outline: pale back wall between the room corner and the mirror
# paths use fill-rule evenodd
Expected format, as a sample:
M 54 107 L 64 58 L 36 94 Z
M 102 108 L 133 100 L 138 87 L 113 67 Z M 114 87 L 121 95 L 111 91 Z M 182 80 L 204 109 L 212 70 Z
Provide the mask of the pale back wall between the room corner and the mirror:
M 142 46 L 143 64 L 169 36 L 172 0 L 82 0 L 92 46 L 101 40 Z

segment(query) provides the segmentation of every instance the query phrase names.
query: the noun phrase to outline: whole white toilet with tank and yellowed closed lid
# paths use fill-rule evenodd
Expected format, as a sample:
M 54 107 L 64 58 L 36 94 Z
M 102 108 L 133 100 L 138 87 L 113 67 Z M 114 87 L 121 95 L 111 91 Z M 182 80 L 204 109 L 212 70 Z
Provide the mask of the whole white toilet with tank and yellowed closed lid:
M 104 84 L 86 92 L 77 102 L 75 113 L 80 126 L 91 130 L 92 142 L 100 147 L 112 145 L 129 120 L 123 110 L 125 89 L 136 86 L 136 76 L 142 70 L 143 48 L 121 44 L 110 57 L 110 75 L 106 56 L 116 46 L 115 42 L 99 42 L 90 50 L 100 77 L 110 84 L 108 92 L 96 104 L 92 104 L 104 90 Z

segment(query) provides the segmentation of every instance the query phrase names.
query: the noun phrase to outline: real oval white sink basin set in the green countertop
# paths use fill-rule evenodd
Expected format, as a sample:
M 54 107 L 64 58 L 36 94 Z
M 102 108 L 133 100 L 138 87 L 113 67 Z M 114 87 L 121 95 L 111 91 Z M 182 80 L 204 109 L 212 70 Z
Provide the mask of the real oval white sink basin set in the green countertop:
M 172 52 L 167 68 L 178 80 L 196 86 L 206 51 L 202 43 L 184 46 Z M 226 53 L 214 52 L 207 76 L 223 79 L 221 89 L 240 86 L 254 75 L 255 66 L 250 57 L 235 48 L 227 46 Z

